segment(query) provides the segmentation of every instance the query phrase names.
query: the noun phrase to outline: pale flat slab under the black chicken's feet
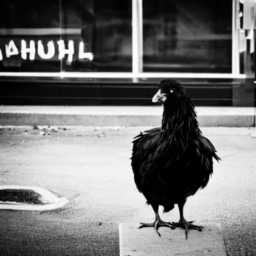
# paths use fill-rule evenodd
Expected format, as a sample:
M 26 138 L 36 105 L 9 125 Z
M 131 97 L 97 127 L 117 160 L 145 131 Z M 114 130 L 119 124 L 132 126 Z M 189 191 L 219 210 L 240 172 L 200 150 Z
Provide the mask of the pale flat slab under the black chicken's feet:
M 220 225 L 197 224 L 204 227 L 203 231 L 189 229 L 185 239 L 181 228 L 160 227 L 158 236 L 151 227 L 138 229 L 139 223 L 120 223 L 120 256 L 226 256 Z

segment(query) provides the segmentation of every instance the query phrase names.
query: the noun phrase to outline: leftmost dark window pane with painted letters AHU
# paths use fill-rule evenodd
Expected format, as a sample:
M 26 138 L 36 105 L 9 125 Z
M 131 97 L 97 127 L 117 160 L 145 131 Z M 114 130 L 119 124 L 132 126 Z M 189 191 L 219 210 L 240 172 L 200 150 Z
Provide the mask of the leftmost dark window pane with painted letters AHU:
M 0 71 L 60 71 L 58 0 L 0 1 Z

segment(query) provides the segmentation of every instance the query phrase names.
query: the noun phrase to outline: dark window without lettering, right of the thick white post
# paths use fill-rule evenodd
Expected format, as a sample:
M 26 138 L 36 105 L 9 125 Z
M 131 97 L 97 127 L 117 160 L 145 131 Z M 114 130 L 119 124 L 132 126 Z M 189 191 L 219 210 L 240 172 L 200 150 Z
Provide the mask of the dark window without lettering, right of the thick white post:
M 144 0 L 143 71 L 231 72 L 232 0 Z

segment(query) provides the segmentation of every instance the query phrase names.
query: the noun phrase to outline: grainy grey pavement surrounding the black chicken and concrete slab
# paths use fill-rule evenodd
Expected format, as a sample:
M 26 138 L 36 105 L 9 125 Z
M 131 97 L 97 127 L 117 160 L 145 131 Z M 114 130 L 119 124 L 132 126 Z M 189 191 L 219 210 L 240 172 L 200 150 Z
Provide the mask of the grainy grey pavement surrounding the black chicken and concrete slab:
M 0 254 L 119 255 L 119 223 L 154 218 L 130 167 L 130 141 L 140 130 L 104 129 L 98 137 L 102 130 L 94 128 L 51 135 L 0 129 L 0 184 L 41 186 L 71 201 L 53 211 L 0 210 Z M 187 200 L 185 218 L 220 223 L 228 256 L 256 255 L 256 138 L 248 128 L 202 131 L 222 161 Z M 177 221 L 177 206 L 160 216 Z

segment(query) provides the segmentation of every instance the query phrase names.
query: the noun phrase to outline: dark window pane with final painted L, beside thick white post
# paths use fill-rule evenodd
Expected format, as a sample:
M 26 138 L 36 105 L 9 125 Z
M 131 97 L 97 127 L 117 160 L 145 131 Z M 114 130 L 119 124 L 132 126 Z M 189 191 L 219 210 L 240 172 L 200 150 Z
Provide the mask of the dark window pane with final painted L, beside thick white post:
M 131 0 L 62 0 L 61 9 L 66 47 L 74 47 L 62 70 L 131 71 Z

